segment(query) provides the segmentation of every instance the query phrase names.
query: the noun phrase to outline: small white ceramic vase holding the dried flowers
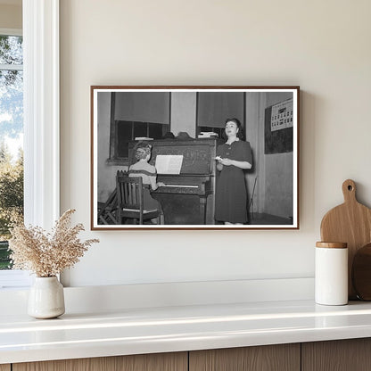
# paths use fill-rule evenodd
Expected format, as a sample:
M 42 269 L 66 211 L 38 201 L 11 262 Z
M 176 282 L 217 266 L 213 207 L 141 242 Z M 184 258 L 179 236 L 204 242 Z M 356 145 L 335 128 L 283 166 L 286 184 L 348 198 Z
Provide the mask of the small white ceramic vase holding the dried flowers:
M 63 286 L 56 276 L 36 277 L 29 290 L 29 316 L 55 318 L 64 313 Z

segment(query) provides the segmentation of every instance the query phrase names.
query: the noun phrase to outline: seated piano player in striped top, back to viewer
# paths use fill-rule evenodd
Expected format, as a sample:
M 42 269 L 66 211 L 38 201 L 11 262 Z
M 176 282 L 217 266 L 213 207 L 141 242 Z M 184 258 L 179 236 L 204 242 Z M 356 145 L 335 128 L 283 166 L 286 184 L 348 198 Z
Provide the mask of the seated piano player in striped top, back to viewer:
M 159 186 L 164 185 L 163 183 L 157 183 L 157 172 L 156 168 L 148 163 L 151 158 L 152 146 L 146 142 L 139 142 L 136 144 L 135 156 L 136 163 L 131 165 L 128 169 L 129 177 L 142 177 L 144 186 L 144 210 L 161 210 L 161 204 L 157 200 L 154 200 L 150 194 L 150 189 L 156 190 Z M 151 219 L 153 224 L 163 224 L 163 214 L 161 210 L 160 220 L 157 218 Z

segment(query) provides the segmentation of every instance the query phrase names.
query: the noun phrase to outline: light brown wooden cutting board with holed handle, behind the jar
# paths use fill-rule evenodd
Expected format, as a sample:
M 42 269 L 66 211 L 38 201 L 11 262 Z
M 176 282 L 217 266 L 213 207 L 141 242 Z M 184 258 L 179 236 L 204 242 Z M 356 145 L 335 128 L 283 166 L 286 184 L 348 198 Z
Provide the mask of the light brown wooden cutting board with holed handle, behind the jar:
M 348 243 L 348 290 L 349 299 L 357 299 L 351 284 L 351 267 L 355 253 L 371 242 L 371 210 L 356 198 L 356 184 L 348 179 L 342 183 L 344 203 L 329 210 L 321 222 L 323 242 Z

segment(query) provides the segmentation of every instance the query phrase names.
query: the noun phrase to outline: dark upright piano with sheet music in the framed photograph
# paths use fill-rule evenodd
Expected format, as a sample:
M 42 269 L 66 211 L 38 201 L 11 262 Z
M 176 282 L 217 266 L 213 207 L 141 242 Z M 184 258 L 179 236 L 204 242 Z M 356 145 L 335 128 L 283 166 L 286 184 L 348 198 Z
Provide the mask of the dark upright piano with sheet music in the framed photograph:
M 159 139 L 149 143 L 153 145 L 150 160 L 153 166 L 158 155 L 183 155 L 180 174 L 158 173 L 157 182 L 165 185 L 152 192 L 153 198 L 161 202 L 165 224 L 215 224 L 215 156 L 219 140 Z M 135 144 L 129 144 L 129 159 L 134 158 Z

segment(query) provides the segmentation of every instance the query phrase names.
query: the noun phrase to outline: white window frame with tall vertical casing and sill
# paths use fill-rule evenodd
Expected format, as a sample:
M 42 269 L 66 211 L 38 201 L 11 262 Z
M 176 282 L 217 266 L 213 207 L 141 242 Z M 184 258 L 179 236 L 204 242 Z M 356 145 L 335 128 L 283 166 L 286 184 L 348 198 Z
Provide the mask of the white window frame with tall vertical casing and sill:
M 23 0 L 24 218 L 47 230 L 60 216 L 59 0 Z M 1 272 L 0 287 L 29 285 L 29 275 Z

